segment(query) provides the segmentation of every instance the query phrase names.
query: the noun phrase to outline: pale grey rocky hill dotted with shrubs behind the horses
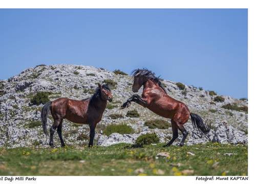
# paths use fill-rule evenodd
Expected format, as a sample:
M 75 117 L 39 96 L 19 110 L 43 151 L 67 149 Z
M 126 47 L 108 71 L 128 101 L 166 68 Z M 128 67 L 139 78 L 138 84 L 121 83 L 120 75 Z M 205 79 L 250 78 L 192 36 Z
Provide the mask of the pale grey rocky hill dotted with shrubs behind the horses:
M 135 103 L 127 109 L 119 107 L 132 92 L 132 78 L 121 72 L 113 73 L 103 68 L 82 65 L 38 65 L 28 68 L 19 75 L 0 81 L 0 147 L 45 147 L 49 143 L 40 124 L 42 104 L 33 105 L 31 98 L 38 91 L 49 92 L 49 99 L 59 97 L 84 99 L 93 94 L 97 83 L 109 82 L 113 88 L 113 102 L 109 103 L 102 121 L 96 127 L 95 143 L 108 146 L 115 143 L 134 143 L 140 134 L 155 132 L 161 142 L 172 137 L 172 128 L 149 128 L 145 122 L 166 120 Z M 208 135 L 193 130 L 191 121 L 185 124 L 189 131 L 187 145 L 216 141 L 220 143 L 247 144 L 247 100 L 217 95 L 214 91 L 187 86 L 181 83 L 163 80 L 169 96 L 187 104 L 191 112 L 199 114 L 205 122 L 212 124 Z M 141 89 L 138 92 L 141 94 Z M 136 109 L 139 117 L 126 116 L 127 111 Z M 49 116 L 48 128 L 52 124 Z M 131 134 L 103 131 L 110 124 L 126 124 L 134 130 Z M 147 124 L 148 125 L 148 124 Z M 180 132 L 179 132 L 180 133 Z M 66 144 L 84 145 L 88 142 L 89 126 L 63 122 L 63 138 Z M 180 137 L 179 137 L 180 138 Z M 57 133 L 55 145 L 59 146 Z M 177 143 L 179 142 L 176 141 Z M 176 144 L 177 144 L 176 143 Z

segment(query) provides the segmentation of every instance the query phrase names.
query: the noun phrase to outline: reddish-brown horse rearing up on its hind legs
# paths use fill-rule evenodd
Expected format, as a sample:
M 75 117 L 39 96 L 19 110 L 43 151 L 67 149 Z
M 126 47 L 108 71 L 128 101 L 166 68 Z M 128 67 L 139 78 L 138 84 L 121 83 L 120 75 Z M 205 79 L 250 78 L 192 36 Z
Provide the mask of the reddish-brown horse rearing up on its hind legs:
M 127 108 L 131 105 L 131 102 L 135 102 L 143 107 L 150 109 L 161 117 L 171 119 L 173 138 L 167 143 L 166 146 L 170 146 L 178 137 L 178 129 L 182 132 L 182 140 L 180 146 L 184 145 L 188 132 L 184 128 L 184 124 L 191 117 L 193 126 L 202 133 L 208 133 L 210 131 L 210 124 L 205 125 L 200 116 L 195 113 L 190 113 L 188 107 L 171 97 L 169 97 L 155 74 L 146 69 L 137 69 L 133 71 L 133 92 L 136 93 L 143 85 L 143 92 L 141 97 L 137 94 L 130 97 L 120 109 Z

